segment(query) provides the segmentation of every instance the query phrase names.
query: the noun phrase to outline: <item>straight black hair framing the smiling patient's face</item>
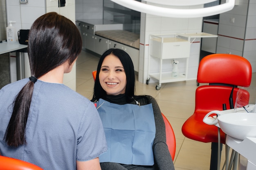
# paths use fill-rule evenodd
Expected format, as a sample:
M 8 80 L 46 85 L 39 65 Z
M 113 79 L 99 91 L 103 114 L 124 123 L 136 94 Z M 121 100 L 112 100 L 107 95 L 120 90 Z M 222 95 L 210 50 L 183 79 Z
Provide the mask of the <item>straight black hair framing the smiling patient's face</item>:
M 126 101 L 129 102 L 131 98 L 134 96 L 135 91 L 135 72 L 134 72 L 134 66 L 132 63 L 132 59 L 130 58 L 129 54 L 127 54 L 124 50 L 121 49 L 114 49 L 110 48 L 106 52 L 104 52 L 99 59 L 98 67 L 97 67 L 97 74 L 95 78 L 94 83 L 94 93 L 92 100 L 99 100 L 100 98 L 104 98 L 107 94 L 105 90 L 101 87 L 101 84 L 99 82 L 99 72 L 101 71 L 101 65 L 103 63 L 103 60 L 108 55 L 113 54 L 116 57 L 119 58 L 122 65 L 124 66 L 124 71 L 126 74 Z

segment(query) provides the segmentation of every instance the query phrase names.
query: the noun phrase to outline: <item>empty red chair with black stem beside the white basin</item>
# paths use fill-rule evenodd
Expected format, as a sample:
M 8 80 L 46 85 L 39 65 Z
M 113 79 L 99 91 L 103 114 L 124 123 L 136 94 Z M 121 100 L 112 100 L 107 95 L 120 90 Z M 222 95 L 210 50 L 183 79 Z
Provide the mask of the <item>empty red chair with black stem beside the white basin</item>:
M 226 104 L 227 109 L 233 109 L 238 86 L 248 87 L 251 80 L 251 64 L 247 59 L 237 55 L 210 54 L 199 63 L 197 81 L 209 85 L 202 85 L 196 89 L 195 111 L 184 122 L 182 133 L 189 139 L 212 143 L 210 170 L 217 169 L 218 128 L 205 124 L 203 118 L 210 111 L 222 110 L 222 104 Z M 225 144 L 225 133 L 222 131 L 220 131 L 220 142 Z

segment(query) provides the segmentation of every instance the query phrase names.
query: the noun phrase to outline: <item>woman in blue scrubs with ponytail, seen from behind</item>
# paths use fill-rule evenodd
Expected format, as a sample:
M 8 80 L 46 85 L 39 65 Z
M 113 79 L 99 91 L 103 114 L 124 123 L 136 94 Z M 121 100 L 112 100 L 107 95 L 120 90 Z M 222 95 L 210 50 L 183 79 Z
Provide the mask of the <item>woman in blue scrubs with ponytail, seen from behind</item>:
M 32 76 L 0 90 L 0 154 L 45 170 L 101 169 L 107 145 L 99 114 L 63 85 L 81 48 L 71 20 L 54 12 L 36 19 L 28 42 Z

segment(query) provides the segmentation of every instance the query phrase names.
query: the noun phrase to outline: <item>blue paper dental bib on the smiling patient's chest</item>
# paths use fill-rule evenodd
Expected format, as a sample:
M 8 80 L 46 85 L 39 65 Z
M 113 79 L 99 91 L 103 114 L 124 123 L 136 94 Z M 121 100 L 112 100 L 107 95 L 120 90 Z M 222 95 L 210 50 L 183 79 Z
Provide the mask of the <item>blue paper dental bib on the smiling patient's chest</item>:
M 155 118 L 152 104 L 118 105 L 100 99 L 97 109 L 108 144 L 108 151 L 99 156 L 100 162 L 154 164 Z

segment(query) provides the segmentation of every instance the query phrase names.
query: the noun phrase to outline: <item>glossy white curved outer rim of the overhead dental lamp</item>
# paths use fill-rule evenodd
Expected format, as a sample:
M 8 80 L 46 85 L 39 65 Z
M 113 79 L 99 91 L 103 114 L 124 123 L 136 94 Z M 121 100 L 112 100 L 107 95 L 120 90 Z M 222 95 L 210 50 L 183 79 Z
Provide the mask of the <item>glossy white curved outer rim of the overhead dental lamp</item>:
M 199 9 L 173 9 L 166 7 L 157 7 L 150 4 L 144 4 L 135 0 L 111 0 L 119 5 L 130 8 L 135 11 L 157 15 L 162 17 L 174 18 L 196 18 L 217 15 L 230 11 L 235 6 L 235 0 L 227 0 L 226 3 L 216 5 L 213 7 L 199 8 Z

